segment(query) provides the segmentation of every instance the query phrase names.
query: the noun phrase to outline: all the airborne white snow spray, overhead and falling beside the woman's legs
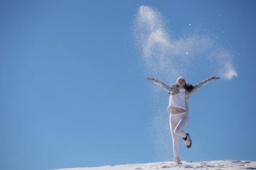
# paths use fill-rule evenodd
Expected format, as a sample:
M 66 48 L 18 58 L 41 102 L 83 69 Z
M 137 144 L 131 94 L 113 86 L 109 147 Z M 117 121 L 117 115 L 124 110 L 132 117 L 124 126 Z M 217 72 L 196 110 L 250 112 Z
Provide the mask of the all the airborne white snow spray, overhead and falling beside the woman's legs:
M 210 76 L 226 80 L 237 76 L 232 53 L 220 47 L 215 38 L 201 33 L 183 34 L 177 38 L 170 34 L 167 23 L 159 11 L 149 6 L 140 6 L 134 15 L 134 39 L 142 56 L 146 77 L 154 77 L 171 85 L 181 75 L 189 79 L 196 77 L 198 82 Z M 159 92 L 153 96 L 154 103 Z M 169 119 L 163 113 L 166 111 L 158 109 L 158 112 L 152 119 L 152 129 L 156 133 L 157 150 L 165 155 L 166 152 L 172 153 Z

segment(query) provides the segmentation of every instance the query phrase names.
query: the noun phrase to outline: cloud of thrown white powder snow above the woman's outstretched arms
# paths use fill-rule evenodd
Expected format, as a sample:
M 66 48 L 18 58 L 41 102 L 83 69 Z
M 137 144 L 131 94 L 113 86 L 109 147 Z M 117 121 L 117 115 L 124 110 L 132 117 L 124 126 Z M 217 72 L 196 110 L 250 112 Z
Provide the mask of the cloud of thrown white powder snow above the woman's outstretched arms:
M 210 36 L 189 34 L 172 38 L 160 12 L 149 6 L 138 8 L 134 36 L 143 54 L 147 75 L 172 78 L 194 74 L 204 65 L 209 76 L 224 79 L 237 76 L 232 54 L 220 47 Z

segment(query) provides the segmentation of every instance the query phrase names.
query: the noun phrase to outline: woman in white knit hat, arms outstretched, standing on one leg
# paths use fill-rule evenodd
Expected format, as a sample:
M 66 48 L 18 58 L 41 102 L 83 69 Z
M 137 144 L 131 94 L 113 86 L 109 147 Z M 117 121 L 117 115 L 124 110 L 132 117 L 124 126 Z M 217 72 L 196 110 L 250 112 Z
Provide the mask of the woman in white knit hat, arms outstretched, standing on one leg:
M 189 133 L 183 131 L 184 127 L 189 121 L 189 97 L 193 94 L 198 88 L 201 88 L 203 85 L 207 84 L 213 79 L 220 79 L 220 77 L 210 77 L 205 79 L 202 82 L 199 82 L 197 85 L 192 86 L 187 84 L 184 77 L 179 77 L 176 80 L 176 85 L 169 87 L 168 85 L 160 82 L 154 78 L 147 78 L 150 81 L 153 81 L 163 89 L 169 92 L 169 105 L 168 112 L 170 113 L 170 129 L 172 132 L 172 143 L 173 143 L 173 152 L 174 152 L 174 161 L 176 164 L 182 164 L 180 162 L 180 153 L 179 153 L 179 137 L 182 137 L 186 147 L 190 148 L 192 145 L 192 140 L 190 139 Z

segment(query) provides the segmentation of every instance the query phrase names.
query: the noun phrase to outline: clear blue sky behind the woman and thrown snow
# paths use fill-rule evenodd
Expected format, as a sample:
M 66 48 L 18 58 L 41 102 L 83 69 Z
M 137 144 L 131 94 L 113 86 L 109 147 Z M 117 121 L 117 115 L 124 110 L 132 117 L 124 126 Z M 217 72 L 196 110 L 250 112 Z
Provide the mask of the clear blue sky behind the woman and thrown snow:
M 170 134 L 152 125 L 163 111 L 168 129 L 169 96 L 161 91 L 154 103 L 134 42 L 141 5 L 160 11 L 173 37 L 191 24 L 234 57 L 238 77 L 210 82 L 190 99 L 194 145 L 180 146 L 182 160 L 256 161 L 255 1 L 1 0 L 0 169 L 172 160 L 159 141 L 165 133 L 171 144 Z M 194 74 L 192 84 L 213 76 Z

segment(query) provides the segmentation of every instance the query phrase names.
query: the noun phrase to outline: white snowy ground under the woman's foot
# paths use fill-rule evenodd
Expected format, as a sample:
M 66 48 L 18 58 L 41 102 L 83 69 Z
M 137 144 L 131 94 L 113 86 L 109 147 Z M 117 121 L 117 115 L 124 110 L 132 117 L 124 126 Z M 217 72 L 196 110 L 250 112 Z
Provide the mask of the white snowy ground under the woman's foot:
M 147 164 L 124 164 L 103 167 L 77 167 L 58 170 L 256 170 L 256 161 L 203 161 L 186 162 L 175 165 L 174 162 L 156 162 Z

